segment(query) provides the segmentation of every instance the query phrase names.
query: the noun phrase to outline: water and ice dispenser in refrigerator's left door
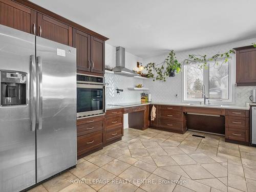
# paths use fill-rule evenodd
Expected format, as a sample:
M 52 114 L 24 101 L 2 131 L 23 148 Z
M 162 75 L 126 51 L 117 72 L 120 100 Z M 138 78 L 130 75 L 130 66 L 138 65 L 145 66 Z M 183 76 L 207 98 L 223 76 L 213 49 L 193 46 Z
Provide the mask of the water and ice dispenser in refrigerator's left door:
M 0 81 L 2 106 L 27 104 L 27 73 L 0 70 Z

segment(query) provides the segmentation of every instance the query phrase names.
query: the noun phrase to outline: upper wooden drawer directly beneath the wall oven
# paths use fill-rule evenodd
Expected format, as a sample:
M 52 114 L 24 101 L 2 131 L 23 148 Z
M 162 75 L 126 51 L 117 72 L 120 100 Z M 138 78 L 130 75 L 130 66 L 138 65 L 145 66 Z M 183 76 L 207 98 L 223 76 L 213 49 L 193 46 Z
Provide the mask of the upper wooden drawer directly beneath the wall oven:
M 77 125 L 77 136 L 102 131 L 103 121 Z

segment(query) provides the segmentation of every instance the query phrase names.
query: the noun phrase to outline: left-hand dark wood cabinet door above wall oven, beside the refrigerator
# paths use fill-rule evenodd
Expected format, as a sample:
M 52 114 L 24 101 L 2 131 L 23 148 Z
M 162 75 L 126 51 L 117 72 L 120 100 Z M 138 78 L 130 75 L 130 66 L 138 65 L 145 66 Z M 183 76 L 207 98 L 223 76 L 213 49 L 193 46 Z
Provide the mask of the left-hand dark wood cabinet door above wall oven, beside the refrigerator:
M 91 35 L 73 28 L 77 70 L 91 71 Z

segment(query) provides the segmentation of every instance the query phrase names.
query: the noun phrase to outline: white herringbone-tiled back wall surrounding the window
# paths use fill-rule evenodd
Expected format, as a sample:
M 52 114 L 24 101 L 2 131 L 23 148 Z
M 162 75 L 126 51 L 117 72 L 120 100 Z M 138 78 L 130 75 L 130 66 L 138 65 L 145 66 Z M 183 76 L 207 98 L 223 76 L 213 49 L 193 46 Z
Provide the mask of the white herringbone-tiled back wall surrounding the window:
M 183 61 L 184 59 L 186 59 L 188 57 L 188 54 L 206 54 L 212 56 L 217 54 L 218 52 L 223 53 L 232 48 L 251 45 L 251 42 L 256 42 L 256 38 L 236 41 L 229 44 L 222 44 L 218 46 L 211 46 L 201 49 L 177 52 L 176 56 L 179 61 Z M 166 58 L 166 56 L 167 55 L 160 55 L 157 57 L 144 58 L 143 64 L 145 65 L 149 62 L 161 63 Z M 232 60 L 235 61 L 235 55 L 233 54 L 232 56 Z M 235 63 L 232 63 L 234 66 Z M 146 81 L 145 86 L 150 88 L 153 102 L 180 103 L 182 101 L 182 73 L 176 74 L 176 77 L 168 78 L 166 82 L 153 80 Z M 256 89 L 256 87 L 236 87 L 235 104 L 243 106 L 245 105 L 245 102 L 250 102 L 249 96 L 251 95 L 252 89 Z M 176 97 L 176 94 L 178 94 L 178 98 Z

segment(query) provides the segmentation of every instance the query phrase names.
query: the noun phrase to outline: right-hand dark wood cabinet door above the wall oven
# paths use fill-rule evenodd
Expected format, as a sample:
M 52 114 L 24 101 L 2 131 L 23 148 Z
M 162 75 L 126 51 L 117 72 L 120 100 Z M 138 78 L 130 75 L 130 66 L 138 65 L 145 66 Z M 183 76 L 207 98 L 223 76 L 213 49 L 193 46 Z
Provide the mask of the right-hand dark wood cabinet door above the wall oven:
M 105 72 L 105 42 L 91 36 L 91 72 L 104 74 Z

